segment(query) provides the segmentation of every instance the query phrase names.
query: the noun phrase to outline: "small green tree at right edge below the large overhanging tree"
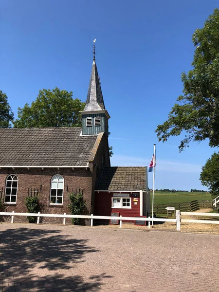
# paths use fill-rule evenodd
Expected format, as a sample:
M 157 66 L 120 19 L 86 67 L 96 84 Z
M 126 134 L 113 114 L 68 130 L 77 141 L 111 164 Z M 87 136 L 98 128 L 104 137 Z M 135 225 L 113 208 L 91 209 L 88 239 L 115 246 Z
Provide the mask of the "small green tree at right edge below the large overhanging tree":
M 200 180 L 202 185 L 210 189 L 212 199 L 219 195 L 219 153 L 214 152 L 202 166 Z

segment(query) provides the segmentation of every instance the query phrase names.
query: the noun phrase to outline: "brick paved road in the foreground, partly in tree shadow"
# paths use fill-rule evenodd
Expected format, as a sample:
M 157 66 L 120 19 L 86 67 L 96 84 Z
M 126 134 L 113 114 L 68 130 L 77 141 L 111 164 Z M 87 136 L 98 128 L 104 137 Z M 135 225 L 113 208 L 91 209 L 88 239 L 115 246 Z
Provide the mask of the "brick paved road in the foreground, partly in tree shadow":
M 219 236 L 0 224 L 0 292 L 219 292 Z

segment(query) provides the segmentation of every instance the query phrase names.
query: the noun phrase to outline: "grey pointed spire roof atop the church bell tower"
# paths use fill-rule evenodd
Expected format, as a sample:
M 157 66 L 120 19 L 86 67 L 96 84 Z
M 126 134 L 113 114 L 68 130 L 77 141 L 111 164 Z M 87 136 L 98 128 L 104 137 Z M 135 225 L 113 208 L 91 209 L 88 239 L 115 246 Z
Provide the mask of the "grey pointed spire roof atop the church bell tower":
M 91 78 L 88 89 L 87 100 L 84 111 L 106 110 L 103 100 L 103 94 L 100 86 L 100 78 L 97 72 L 95 55 L 93 55 L 93 64 Z

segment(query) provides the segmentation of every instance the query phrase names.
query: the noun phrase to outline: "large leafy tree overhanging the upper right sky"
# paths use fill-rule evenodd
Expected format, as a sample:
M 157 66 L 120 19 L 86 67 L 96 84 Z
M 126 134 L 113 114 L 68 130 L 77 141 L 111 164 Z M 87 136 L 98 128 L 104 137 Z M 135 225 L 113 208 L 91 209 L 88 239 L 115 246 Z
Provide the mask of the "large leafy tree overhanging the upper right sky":
M 211 147 L 219 146 L 219 9 L 193 34 L 195 54 L 193 69 L 182 73 L 183 95 L 177 99 L 163 125 L 156 132 L 159 141 L 170 136 L 185 137 L 182 151 L 189 142 L 209 139 Z

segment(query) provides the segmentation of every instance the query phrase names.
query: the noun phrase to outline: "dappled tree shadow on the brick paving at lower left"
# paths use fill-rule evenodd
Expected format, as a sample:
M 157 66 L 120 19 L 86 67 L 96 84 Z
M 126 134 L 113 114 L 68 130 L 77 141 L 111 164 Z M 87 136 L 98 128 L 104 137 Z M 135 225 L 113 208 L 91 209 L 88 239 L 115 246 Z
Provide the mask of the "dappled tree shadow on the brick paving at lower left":
M 86 254 L 99 251 L 89 246 L 86 239 L 60 232 L 31 228 L 0 232 L 2 292 L 94 291 L 103 285 L 103 278 L 111 277 L 100 274 L 84 280 L 77 274 L 77 263 L 85 261 Z

